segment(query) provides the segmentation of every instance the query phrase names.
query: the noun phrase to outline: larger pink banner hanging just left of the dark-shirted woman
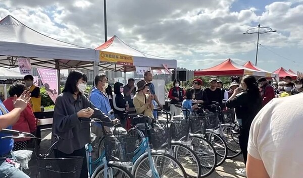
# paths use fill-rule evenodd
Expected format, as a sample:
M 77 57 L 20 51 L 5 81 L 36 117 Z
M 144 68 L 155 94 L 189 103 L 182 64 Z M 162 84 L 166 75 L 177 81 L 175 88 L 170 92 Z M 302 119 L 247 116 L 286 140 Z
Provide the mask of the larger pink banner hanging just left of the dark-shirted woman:
M 38 68 L 38 73 L 41 78 L 41 81 L 45 87 L 45 90 L 49 97 L 55 103 L 56 98 L 58 97 L 58 76 L 56 69 L 41 69 Z

